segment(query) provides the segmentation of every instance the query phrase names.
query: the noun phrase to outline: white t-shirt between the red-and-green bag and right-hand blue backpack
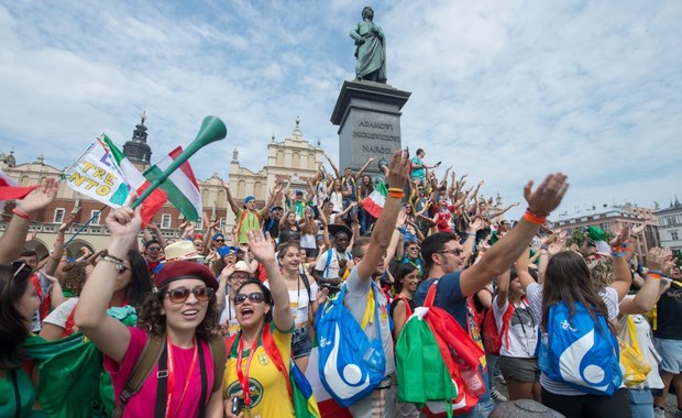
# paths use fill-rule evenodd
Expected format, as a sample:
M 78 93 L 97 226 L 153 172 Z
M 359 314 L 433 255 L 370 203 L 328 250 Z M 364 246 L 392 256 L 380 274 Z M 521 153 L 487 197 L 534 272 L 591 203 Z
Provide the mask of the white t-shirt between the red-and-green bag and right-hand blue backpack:
M 502 330 L 502 321 L 509 300 L 505 300 L 502 308 L 497 307 L 497 296 L 493 298 L 493 315 L 495 315 L 495 323 L 497 330 Z M 499 346 L 499 355 L 508 358 L 532 359 L 536 356 L 536 348 L 538 345 L 538 323 L 530 314 L 530 308 L 521 300 L 515 306 L 514 314 L 509 318 L 509 328 L 507 334 L 509 337 L 509 346 L 505 344 L 506 338 L 503 336 L 502 345 Z

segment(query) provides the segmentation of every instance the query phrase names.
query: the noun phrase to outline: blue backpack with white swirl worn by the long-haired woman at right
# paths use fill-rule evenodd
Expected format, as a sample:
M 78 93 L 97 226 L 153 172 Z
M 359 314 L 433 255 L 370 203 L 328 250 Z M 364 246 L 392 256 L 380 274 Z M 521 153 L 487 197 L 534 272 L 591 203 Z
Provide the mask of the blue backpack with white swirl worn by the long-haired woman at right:
M 597 322 L 585 306 L 559 301 L 549 308 L 547 337 L 542 338 L 538 365 L 553 382 L 565 383 L 593 395 L 613 395 L 623 374 L 618 364 L 618 340 L 606 319 L 597 314 Z

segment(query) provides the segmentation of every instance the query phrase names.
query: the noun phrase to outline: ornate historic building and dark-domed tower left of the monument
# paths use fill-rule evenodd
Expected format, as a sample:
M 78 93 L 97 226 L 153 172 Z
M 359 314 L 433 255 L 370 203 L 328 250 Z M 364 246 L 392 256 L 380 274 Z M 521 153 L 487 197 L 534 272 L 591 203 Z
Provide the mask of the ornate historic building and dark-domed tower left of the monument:
M 317 146 L 311 145 L 304 139 L 298 125 L 297 118 L 292 135 L 284 141 L 275 141 L 273 135 L 266 145 L 266 165 L 258 172 L 242 167 L 239 162 L 239 150 L 234 148 L 230 172 L 224 182 L 229 183 L 230 190 L 238 205 L 243 202 L 245 196 L 251 195 L 256 198 L 257 206 L 263 206 L 267 200 L 270 190 L 282 182 L 289 180 L 290 188 L 302 189 L 307 187 L 308 179 L 316 175 L 319 165 L 322 164 L 323 152 L 319 144 Z M 131 141 L 123 145 L 123 150 L 127 157 L 141 170 L 150 165 L 152 148 L 147 143 L 144 113 L 140 124 L 135 125 Z M 58 177 L 63 173 L 63 169 L 46 164 L 42 157 L 32 163 L 18 164 L 12 152 L 9 154 L 0 153 L 0 168 L 21 186 L 35 185 L 45 178 Z M 218 173 L 213 173 L 206 180 L 197 179 L 201 191 L 204 212 L 209 220 L 220 221 L 221 229 L 229 233 L 235 223 L 235 217 L 229 208 L 222 182 L 223 178 Z M 282 197 L 278 197 L 277 202 L 280 200 Z M 7 228 L 13 204 L 11 202 L 6 206 L 0 220 L 0 232 Z M 105 217 L 108 213 L 107 207 L 61 183 L 55 201 L 42 213 L 38 213 L 36 221 L 32 223 L 31 230 L 37 231 L 37 235 L 26 243 L 26 248 L 36 250 L 41 257 L 48 255 L 50 249 L 54 245 L 56 230 L 68 213 L 74 213 L 76 220 L 67 231 L 66 239 L 68 240 L 77 231 L 80 231 L 78 237 L 67 246 L 68 256 L 76 256 L 81 246 L 87 246 L 92 251 L 103 249 L 107 245 L 109 234 L 103 224 Z M 91 221 L 87 227 L 84 227 L 90 219 Z M 155 221 L 164 237 L 173 239 L 179 237 L 179 226 L 185 219 L 168 202 L 156 213 Z M 204 232 L 204 221 L 196 222 L 197 232 Z

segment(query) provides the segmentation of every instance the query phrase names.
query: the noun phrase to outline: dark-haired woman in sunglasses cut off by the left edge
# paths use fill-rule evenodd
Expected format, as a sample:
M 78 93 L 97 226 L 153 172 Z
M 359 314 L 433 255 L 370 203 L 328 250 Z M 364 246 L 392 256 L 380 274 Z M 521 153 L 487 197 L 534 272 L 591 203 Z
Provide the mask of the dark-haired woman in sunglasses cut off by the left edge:
M 24 262 L 0 264 L 0 417 L 25 417 L 35 400 L 23 353 L 41 304 L 30 280 L 32 273 Z

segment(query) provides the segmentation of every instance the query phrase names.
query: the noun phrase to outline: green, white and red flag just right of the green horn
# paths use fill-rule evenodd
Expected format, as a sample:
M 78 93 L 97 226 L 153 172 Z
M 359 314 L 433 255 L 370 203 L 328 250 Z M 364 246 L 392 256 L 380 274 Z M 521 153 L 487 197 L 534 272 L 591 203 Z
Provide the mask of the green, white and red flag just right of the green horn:
M 144 177 L 154 182 L 161 178 L 168 166 L 180 155 L 183 147 L 178 146 L 163 160 L 151 166 L 144 172 Z M 168 195 L 168 200 L 185 216 L 189 221 L 201 219 L 201 194 L 199 185 L 188 162 L 183 163 L 180 168 L 170 173 L 168 178 L 158 186 Z

